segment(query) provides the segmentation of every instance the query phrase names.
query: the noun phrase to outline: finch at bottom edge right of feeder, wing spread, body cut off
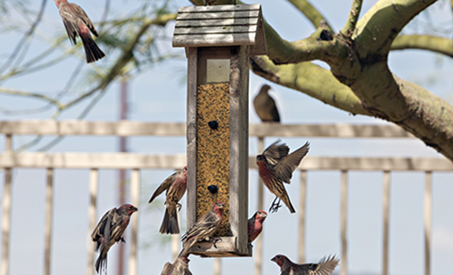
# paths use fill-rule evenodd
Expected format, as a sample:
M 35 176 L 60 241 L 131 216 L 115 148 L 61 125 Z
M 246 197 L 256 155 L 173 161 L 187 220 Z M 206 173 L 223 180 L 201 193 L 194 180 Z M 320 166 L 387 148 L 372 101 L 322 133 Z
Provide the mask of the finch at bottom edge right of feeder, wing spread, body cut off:
M 275 255 L 271 259 L 280 266 L 280 275 L 329 275 L 338 265 L 335 256 L 323 258 L 319 263 L 292 263 L 285 255 Z

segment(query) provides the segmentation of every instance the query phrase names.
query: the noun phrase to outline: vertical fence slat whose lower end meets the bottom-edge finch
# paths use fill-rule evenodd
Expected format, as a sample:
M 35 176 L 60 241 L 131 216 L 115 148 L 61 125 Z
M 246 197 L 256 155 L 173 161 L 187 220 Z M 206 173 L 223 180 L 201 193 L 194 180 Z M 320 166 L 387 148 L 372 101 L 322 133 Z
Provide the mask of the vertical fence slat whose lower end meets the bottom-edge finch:
M 306 263 L 306 170 L 300 171 L 298 205 L 298 263 Z

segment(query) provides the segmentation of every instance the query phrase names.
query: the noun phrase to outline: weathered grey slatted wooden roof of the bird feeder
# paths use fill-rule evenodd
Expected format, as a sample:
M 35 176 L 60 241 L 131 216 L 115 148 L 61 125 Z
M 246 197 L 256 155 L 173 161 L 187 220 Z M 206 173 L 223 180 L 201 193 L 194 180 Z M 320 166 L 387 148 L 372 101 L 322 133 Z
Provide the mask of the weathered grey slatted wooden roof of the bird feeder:
M 173 47 L 250 45 L 250 55 L 266 55 L 260 4 L 180 7 Z

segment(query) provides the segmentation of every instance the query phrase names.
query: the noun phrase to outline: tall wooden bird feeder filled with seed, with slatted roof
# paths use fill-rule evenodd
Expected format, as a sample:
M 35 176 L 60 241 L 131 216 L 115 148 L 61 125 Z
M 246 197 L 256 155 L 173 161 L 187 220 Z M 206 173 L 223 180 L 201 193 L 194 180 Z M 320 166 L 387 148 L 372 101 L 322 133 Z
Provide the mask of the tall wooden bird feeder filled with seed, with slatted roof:
M 226 206 L 215 238 L 189 251 L 251 256 L 249 58 L 266 54 L 261 5 L 181 7 L 173 47 L 187 55 L 187 228 L 214 202 Z

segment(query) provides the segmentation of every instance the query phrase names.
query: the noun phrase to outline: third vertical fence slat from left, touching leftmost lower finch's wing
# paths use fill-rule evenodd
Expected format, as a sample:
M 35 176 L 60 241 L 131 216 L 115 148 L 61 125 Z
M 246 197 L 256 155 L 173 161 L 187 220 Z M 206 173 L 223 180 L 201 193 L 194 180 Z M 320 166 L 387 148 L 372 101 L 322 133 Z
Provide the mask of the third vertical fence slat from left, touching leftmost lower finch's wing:
M 94 245 L 91 240 L 91 232 L 94 230 L 96 226 L 96 201 L 98 198 L 98 185 L 99 185 L 99 170 L 98 169 L 91 169 L 90 171 L 90 206 L 88 207 L 88 220 L 89 220 L 89 228 L 88 228 L 88 245 L 87 245 L 87 253 L 88 253 L 88 266 L 86 270 L 86 274 L 94 275 Z

